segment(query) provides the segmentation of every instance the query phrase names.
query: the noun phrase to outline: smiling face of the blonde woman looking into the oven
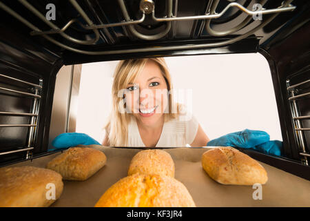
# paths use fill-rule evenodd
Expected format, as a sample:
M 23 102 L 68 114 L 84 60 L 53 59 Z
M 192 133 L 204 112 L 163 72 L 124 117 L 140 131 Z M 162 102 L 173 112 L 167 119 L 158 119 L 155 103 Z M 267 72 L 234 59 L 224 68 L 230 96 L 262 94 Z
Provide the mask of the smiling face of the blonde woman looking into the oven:
M 127 113 L 133 113 L 145 126 L 156 125 L 168 104 L 167 84 L 156 62 L 148 60 L 136 80 L 126 88 Z

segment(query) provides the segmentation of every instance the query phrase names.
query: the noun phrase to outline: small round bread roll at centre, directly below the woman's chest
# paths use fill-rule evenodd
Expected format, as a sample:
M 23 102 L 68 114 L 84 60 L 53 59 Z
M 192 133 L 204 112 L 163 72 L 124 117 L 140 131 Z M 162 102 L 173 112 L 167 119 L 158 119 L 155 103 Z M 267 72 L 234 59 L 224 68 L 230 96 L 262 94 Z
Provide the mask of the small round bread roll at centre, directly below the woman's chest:
M 128 175 L 134 173 L 174 177 L 174 161 L 166 151 L 157 149 L 140 151 L 134 155 L 128 169 Z

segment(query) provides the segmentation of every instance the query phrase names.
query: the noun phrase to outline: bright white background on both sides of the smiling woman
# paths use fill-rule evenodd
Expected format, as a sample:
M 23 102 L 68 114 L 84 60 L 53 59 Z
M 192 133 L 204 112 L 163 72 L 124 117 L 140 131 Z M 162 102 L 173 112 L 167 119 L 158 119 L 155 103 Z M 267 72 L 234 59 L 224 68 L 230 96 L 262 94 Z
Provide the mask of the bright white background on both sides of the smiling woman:
M 256 54 L 165 57 L 174 88 L 192 90 L 192 111 L 210 139 L 227 133 L 266 131 L 281 140 L 269 65 Z M 103 141 L 110 113 L 112 75 L 118 61 L 83 64 L 76 132 Z

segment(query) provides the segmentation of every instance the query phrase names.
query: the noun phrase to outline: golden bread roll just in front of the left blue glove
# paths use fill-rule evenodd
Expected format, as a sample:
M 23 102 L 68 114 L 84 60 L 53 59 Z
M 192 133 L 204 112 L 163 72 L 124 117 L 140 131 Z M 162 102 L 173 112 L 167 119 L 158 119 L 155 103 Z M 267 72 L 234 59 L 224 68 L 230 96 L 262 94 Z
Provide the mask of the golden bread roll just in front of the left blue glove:
M 101 169 L 107 157 L 99 150 L 72 147 L 48 162 L 46 168 L 60 173 L 63 180 L 87 180 Z

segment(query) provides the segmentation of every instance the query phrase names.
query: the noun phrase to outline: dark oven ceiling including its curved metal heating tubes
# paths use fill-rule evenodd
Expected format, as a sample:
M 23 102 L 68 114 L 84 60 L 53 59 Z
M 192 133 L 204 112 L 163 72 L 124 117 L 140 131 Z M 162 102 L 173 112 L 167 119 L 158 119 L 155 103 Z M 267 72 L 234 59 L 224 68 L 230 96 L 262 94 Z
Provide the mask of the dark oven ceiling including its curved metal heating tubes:
M 283 1 L 282 6 L 282 0 L 142 2 L 144 5 L 140 0 L 6 0 L 0 5 L 0 10 L 6 11 L 0 14 L 1 21 L 6 21 L 1 22 L 1 28 L 7 30 L 6 39 L 10 31 L 18 33 L 21 40 L 45 48 L 43 54 L 62 57 L 64 64 L 81 64 L 154 55 L 257 52 L 258 47 L 268 50 L 302 26 L 294 20 L 309 8 L 309 1 Z M 55 6 L 55 20 L 47 21 L 50 3 Z M 280 6 L 287 10 L 254 20 L 242 7 L 253 10 L 255 3 L 265 10 Z M 201 15 L 215 17 L 194 18 Z M 269 23 L 263 24 L 267 20 Z M 117 24 L 121 22 L 127 23 Z

